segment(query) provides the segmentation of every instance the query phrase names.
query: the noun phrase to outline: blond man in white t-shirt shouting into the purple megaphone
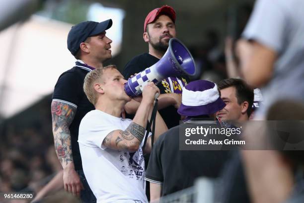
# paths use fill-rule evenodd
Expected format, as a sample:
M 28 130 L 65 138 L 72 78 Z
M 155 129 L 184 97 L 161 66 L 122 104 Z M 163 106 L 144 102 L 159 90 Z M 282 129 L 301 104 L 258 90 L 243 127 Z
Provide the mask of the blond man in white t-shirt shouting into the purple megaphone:
M 127 81 L 111 65 L 88 73 L 84 93 L 94 104 L 79 125 L 79 149 L 87 182 L 97 203 L 146 203 L 145 160 L 151 137 L 142 150 L 148 117 L 159 89 L 149 83 L 133 120 L 120 117 L 131 98 L 124 91 Z M 167 130 L 157 113 L 155 140 Z

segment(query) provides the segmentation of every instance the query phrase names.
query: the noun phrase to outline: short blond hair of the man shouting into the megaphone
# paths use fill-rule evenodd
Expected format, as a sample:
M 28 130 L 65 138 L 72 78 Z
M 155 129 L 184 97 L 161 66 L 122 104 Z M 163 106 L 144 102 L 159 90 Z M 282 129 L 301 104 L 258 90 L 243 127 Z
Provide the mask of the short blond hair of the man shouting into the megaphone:
M 96 97 L 97 92 L 94 89 L 94 83 L 96 83 L 98 80 L 99 80 L 99 82 L 102 82 L 101 81 L 102 74 L 106 69 L 109 69 L 109 68 L 117 69 L 117 67 L 115 65 L 109 65 L 109 66 L 102 67 L 102 68 L 96 68 L 95 70 L 86 74 L 86 76 L 84 78 L 83 91 L 84 91 L 88 101 L 91 102 L 93 105 L 95 105 L 97 102 L 97 97 Z

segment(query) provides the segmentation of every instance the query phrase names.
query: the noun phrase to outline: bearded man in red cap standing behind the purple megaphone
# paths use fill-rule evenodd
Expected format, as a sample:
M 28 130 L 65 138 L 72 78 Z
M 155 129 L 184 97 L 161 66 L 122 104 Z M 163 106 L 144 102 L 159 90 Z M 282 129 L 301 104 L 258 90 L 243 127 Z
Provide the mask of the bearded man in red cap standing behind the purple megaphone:
M 175 11 L 164 5 L 153 9 L 144 23 L 144 41 L 149 44 L 149 53 L 134 57 L 126 65 L 123 75 L 129 78 L 154 65 L 164 55 L 170 38 L 175 37 Z M 180 116 L 176 109 L 181 103 L 183 87 L 189 82 L 188 77 L 169 77 L 161 81 L 157 87 L 161 95 L 158 98 L 158 109 L 168 128 L 179 124 Z

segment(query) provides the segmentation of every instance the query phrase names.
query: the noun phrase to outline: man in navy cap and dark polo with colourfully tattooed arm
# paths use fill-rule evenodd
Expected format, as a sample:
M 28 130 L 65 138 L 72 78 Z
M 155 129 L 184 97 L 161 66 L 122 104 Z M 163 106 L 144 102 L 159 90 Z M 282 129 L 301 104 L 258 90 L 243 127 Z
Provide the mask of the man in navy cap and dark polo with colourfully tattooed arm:
M 83 92 L 86 74 L 112 57 L 111 43 L 105 34 L 112 20 L 85 21 L 72 27 L 68 34 L 68 49 L 75 56 L 76 65 L 58 79 L 52 101 L 52 120 L 55 149 L 64 169 L 65 190 L 83 202 L 96 202 L 82 170 L 79 153 L 78 128 L 82 117 L 94 106 Z

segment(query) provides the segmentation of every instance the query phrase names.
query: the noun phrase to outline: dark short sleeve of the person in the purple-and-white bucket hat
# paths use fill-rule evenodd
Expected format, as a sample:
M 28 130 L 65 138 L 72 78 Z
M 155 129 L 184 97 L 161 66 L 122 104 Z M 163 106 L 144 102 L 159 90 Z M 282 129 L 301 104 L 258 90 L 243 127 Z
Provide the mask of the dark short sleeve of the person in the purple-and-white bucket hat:
M 159 136 L 150 155 L 145 179 L 146 181 L 149 181 L 151 183 L 156 183 L 156 184 L 163 183 L 161 154 L 163 149 L 163 138 L 165 134 L 166 133 Z

